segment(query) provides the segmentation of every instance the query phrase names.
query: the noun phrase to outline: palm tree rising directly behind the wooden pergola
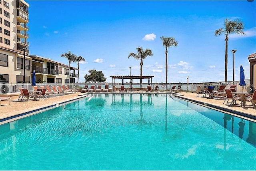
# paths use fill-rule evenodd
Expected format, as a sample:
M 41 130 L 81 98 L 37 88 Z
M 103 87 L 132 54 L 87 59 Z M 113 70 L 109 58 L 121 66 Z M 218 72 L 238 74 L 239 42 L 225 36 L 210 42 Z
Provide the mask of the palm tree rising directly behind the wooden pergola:
M 138 54 L 131 52 L 128 55 L 128 59 L 132 56 L 136 60 L 140 60 L 140 76 L 142 76 L 143 60 L 145 58 L 147 58 L 148 56 L 153 56 L 153 53 L 152 53 L 152 50 L 150 50 L 150 49 L 143 50 L 142 47 L 138 47 L 138 48 L 136 48 L 136 50 L 137 50 Z M 142 83 L 142 79 L 140 79 L 140 89 L 141 89 L 141 83 Z

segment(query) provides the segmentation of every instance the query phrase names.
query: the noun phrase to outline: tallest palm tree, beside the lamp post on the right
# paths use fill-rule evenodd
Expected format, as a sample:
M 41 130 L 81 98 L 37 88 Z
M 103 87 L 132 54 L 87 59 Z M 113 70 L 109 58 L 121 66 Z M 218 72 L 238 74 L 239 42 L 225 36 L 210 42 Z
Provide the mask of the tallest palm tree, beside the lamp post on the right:
M 226 50 L 225 50 L 225 82 L 227 82 L 227 70 L 228 70 L 228 34 L 235 33 L 244 35 L 242 31 L 244 29 L 244 23 L 241 22 L 239 19 L 236 20 L 229 20 L 228 18 L 225 20 L 224 28 L 220 28 L 215 30 L 215 36 L 221 35 L 222 33 L 225 34 L 226 38 Z

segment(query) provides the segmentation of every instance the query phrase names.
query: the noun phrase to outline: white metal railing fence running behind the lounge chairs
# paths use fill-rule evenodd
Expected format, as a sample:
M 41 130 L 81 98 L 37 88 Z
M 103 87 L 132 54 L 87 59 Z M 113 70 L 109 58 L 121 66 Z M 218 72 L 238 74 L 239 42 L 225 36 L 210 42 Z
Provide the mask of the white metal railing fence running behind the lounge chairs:
M 239 85 L 240 81 L 236 81 L 236 82 L 227 82 L 226 84 L 224 82 L 213 82 L 213 83 L 204 83 L 204 84 L 158 84 L 158 83 L 152 83 L 151 86 L 152 88 L 155 88 L 156 86 L 158 86 L 159 91 L 166 91 L 166 89 L 171 89 L 173 85 L 176 85 L 176 88 L 178 87 L 178 85 L 181 85 L 181 91 L 184 92 L 196 92 L 197 89 L 201 89 L 204 90 L 205 88 L 207 88 L 209 85 L 213 85 L 214 87 L 214 91 L 218 91 L 218 88 L 220 85 L 226 85 L 226 88 L 229 88 L 230 85 L 237 85 L 236 86 L 236 91 L 237 92 L 242 92 L 242 86 Z M 250 92 L 250 79 L 245 80 L 246 82 L 246 86 L 244 87 L 244 91 L 246 92 Z M 70 88 L 82 88 L 84 87 L 84 85 L 102 85 L 102 87 L 104 88 L 105 85 L 108 84 L 109 88 L 112 87 L 112 85 L 115 85 L 117 88 L 120 88 L 121 83 L 67 83 L 65 85 L 68 85 L 68 87 Z M 63 83 L 60 84 L 56 84 L 56 83 L 36 83 L 36 85 L 38 87 L 40 87 L 40 85 L 49 85 L 51 87 L 51 85 L 64 85 Z M 148 86 L 148 83 L 142 83 L 141 87 L 146 88 Z M 130 83 L 124 83 L 124 87 L 128 88 L 131 87 Z M 132 83 L 132 87 L 133 88 L 140 88 L 140 84 L 139 83 Z M 20 92 L 20 88 L 25 88 L 28 89 L 29 91 L 33 90 L 33 86 L 31 85 L 31 83 L 0 83 L 0 93 L 2 94 L 6 94 L 6 93 L 18 93 Z

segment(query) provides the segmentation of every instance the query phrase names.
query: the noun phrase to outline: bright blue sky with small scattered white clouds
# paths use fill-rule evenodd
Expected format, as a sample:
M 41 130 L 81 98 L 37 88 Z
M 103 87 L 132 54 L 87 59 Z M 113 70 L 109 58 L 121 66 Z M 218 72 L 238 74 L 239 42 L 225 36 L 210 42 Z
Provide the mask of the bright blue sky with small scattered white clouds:
M 139 46 L 152 50 L 144 60 L 143 76 L 165 82 L 165 48 L 161 36 L 173 37 L 177 47 L 168 49 L 168 82 L 223 82 L 225 36 L 215 36 L 224 20 L 239 18 L 245 36 L 229 35 L 228 81 L 244 67 L 250 78 L 248 56 L 256 52 L 256 2 L 242 1 L 36 1 L 29 8 L 30 54 L 68 65 L 67 53 L 82 56 L 79 82 L 88 70 L 110 76 L 140 75 L 140 61 L 129 58 Z M 77 68 L 77 63 L 71 66 Z M 139 80 L 134 80 L 139 82 Z

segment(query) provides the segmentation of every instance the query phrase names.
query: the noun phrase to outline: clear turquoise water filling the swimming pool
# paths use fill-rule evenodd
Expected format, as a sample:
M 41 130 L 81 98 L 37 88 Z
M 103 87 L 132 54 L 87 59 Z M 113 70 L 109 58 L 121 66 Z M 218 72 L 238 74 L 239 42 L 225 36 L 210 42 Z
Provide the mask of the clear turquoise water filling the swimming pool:
M 163 95 L 95 95 L 0 125 L 1 170 L 256 170 L 256 123 Z

